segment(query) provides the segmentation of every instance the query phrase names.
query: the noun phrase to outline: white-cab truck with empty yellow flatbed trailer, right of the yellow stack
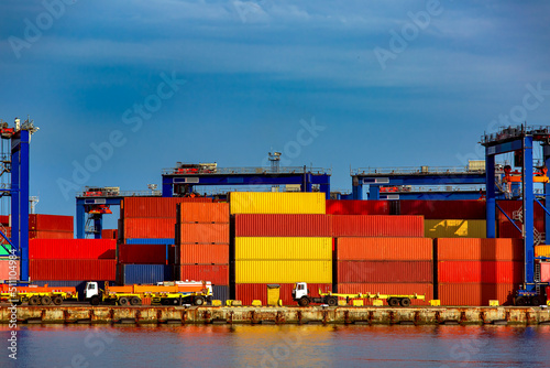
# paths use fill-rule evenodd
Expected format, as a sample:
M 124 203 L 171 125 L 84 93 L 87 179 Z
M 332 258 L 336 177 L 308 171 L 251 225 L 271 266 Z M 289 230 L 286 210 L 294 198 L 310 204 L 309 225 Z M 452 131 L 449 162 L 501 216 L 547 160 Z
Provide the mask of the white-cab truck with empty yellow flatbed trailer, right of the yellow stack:
M 300 305 L 300 306 L 308 306 L 311 303 L 328 304 L 329 306 L 337 306 L 338 305 L 338 297 L 345 297 L 348 301 L 353 300 L 353 299 L 386 300 L 387 304 L 389 306 L 394 306 L 394 307 L 399 306 L 399 305 L 405 306 L 405 307 L 410 306 L 411 299 L 426 300 L 426 295 L 418 295 L 418 294 L 386 295 L 386 294 L 381 294 L 381 293 L 372 294 L 370 292 L 358 293 L 358 294 L 339 294 L 339 293 L 331 293 L 331 292 L 323 293 L 321 290 L 319 290 L 319 297 L 314 297 L 314 296 L 309 295 L 308 284 L 306 282 L 297 282 L 295 288 L 293 289 L 293 300 L 295 302 L 298 302 L 298 305 Z

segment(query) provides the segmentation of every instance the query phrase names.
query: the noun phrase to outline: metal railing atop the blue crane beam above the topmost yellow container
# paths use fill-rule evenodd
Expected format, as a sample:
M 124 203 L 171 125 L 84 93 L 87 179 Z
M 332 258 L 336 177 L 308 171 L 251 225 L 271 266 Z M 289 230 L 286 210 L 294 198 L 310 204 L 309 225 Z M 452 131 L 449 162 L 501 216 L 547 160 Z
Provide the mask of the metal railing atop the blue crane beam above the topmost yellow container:
M 217 167 L 216 170 L 189 170 L 189 169 L 163 169 L 163 175 L 239 175 L 239 174 L 302 174 L 304 166 L 283 166 L 283 167 Z M 331 169 L 306 167 L 306 173 L 316 175 L 331 175 Z

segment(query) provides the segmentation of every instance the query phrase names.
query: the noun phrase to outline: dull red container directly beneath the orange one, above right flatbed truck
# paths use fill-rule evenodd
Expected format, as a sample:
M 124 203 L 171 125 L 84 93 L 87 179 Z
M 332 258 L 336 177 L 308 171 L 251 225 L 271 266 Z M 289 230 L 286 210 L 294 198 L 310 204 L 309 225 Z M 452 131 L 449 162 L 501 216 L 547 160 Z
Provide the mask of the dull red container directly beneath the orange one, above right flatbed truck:
M 431 261 L 339 261 L 338 283 L 433 282 Z

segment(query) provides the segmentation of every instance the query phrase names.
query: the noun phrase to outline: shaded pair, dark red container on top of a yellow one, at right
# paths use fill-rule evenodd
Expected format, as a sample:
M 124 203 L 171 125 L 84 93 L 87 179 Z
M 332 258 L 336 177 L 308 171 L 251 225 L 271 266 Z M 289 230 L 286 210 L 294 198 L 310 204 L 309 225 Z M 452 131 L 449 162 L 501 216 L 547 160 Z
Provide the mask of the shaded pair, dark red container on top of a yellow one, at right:
M 486 238 L 483 201 L 400 201 L 399 214 L 424 216 L 427 238 Z

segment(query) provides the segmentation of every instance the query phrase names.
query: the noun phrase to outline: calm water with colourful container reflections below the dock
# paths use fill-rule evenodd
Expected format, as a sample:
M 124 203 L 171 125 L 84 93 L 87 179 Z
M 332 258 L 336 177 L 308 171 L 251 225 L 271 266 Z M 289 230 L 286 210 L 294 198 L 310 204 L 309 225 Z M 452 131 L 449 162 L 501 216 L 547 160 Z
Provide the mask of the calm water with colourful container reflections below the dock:
M 23 326 L 0 367 L 550 367 L 550 326 Z

